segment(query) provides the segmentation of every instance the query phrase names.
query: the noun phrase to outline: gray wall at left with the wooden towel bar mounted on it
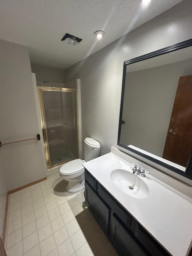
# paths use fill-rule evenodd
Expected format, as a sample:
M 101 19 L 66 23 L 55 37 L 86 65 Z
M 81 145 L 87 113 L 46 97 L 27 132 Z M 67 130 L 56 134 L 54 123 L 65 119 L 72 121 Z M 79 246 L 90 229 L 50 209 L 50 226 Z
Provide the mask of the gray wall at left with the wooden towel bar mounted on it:
M 1 142 L 36 137 L 39 128 L 28 49 L 3 40 L 0 49 Z M 38 140 L 2 146 L 0 165 L 7 190 L 45 177 Z

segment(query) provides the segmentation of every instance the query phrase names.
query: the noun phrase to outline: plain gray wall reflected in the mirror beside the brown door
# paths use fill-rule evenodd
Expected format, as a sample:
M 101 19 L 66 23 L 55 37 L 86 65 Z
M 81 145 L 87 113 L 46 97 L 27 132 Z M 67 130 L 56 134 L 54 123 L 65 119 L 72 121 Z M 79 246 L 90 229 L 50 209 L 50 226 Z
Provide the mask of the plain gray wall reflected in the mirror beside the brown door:
M 122 144 L 163 156 L 179 77 L 187 75 L 192 59 L 126 74 Z

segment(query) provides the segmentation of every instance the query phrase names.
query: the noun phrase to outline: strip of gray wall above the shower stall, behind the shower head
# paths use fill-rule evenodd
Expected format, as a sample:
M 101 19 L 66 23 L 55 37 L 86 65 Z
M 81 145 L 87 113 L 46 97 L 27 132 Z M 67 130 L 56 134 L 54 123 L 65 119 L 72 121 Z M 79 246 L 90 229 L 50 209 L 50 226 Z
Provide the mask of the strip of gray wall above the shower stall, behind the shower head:
M 48 68 L 31 63 L 32 73 L 35 73 L 37 81 L 49 81 L 54 83 L 64 83 L 64 70 L 58 68 Z M 46 84 L 46 86 L 50 86 Z

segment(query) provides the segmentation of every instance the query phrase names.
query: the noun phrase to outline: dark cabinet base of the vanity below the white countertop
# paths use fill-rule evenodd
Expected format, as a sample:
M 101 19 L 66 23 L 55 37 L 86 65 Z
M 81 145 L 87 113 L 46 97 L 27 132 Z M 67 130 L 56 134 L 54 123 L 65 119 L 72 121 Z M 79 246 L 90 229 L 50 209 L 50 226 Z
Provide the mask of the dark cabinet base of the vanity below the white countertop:
M 86 169 L 85 203 L 120 256 L 170 255 Z

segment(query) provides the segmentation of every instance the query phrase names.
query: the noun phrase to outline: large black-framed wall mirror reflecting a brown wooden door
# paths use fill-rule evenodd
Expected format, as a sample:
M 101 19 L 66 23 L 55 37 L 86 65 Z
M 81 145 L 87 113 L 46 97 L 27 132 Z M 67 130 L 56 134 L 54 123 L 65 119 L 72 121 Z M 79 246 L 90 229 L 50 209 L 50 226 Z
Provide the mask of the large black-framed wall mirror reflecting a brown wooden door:
M 192 39 L 124 62 L 118 145 L 192 179 Z

